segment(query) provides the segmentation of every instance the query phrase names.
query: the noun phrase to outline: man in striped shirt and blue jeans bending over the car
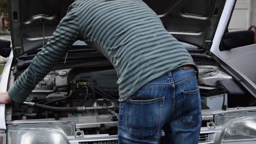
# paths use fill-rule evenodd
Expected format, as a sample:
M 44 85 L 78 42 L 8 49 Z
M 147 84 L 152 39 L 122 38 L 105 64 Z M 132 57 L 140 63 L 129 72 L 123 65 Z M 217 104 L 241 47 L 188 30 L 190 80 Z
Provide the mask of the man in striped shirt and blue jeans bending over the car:
M 197 67 L 141 0 L 80 0 L 0 103 L 22 103 L 74 41 L 106 56 L 118 75 L 119 143 L 197 143 L 201 102 Z

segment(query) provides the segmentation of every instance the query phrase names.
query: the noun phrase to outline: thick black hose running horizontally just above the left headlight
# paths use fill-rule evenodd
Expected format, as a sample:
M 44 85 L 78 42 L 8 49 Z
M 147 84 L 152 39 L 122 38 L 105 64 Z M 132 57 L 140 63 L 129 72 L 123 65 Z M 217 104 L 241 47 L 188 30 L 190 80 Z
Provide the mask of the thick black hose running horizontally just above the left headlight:
M 41 104 L 34 104 L 34 107 L 37 107 L 39 109 L 44 109 L 48 111 L 57 111 L 57 112 L 77 112 L 77 107 L 54 107 L 54 106 L 48 106 L 48 105 L 41 105 Z

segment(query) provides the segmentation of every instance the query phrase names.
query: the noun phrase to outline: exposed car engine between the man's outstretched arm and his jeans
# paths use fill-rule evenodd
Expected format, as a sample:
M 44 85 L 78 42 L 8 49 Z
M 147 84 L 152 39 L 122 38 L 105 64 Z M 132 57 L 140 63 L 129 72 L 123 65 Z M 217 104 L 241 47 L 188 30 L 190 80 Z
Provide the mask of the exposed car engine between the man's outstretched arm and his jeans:
M 104 68 L 105 69 L 105 68 Z M 27 122 L 72 121 L 98 123 L 118 121 L 118 85 L 114 69 L 61 69 L 50 71 L 38 83 L 25 104 L 13 104 L 11 120 Z M 117 131 L 117 124 L 108 133 Z M 80 128 L 86 126 L 81 125 Z M 99 125 L 103 127 L 103 125 Z M 87 127 L 86 127 L 87 128 Z M 101 128 L 100 130 L 103 130 Z M 88 130 L 90 134 L 100 133 Z M 97 132 L 98 131 L 98 132 Z M 106 133 L 106 132 L 105 132 Z

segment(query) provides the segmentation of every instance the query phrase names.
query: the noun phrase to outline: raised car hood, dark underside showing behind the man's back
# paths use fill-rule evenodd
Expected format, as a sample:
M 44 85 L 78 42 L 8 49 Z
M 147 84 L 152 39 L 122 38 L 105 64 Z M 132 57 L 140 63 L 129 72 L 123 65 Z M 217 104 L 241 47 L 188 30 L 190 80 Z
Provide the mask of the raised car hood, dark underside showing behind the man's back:
M 73 0 L 9 0 L 14 57 L 46 44 Z M 144 0 L 179 41 L 210 49 L 225 0 Z M 43 40 L 44 39 L 44 40 Z

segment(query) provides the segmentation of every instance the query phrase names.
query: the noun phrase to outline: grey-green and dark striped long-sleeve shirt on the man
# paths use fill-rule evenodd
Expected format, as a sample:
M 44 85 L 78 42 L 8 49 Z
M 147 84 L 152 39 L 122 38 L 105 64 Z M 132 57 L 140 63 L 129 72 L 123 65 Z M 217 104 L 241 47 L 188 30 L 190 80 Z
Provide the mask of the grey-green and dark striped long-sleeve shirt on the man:
M 53 38 L 18 77 L 9 96 L 18 103 L 24 101 L 78 39 L 113 64 L 120 101 L 168 71 L 195 65 L 187 50 L 142 0 L 80 0 L 69 6 Z

